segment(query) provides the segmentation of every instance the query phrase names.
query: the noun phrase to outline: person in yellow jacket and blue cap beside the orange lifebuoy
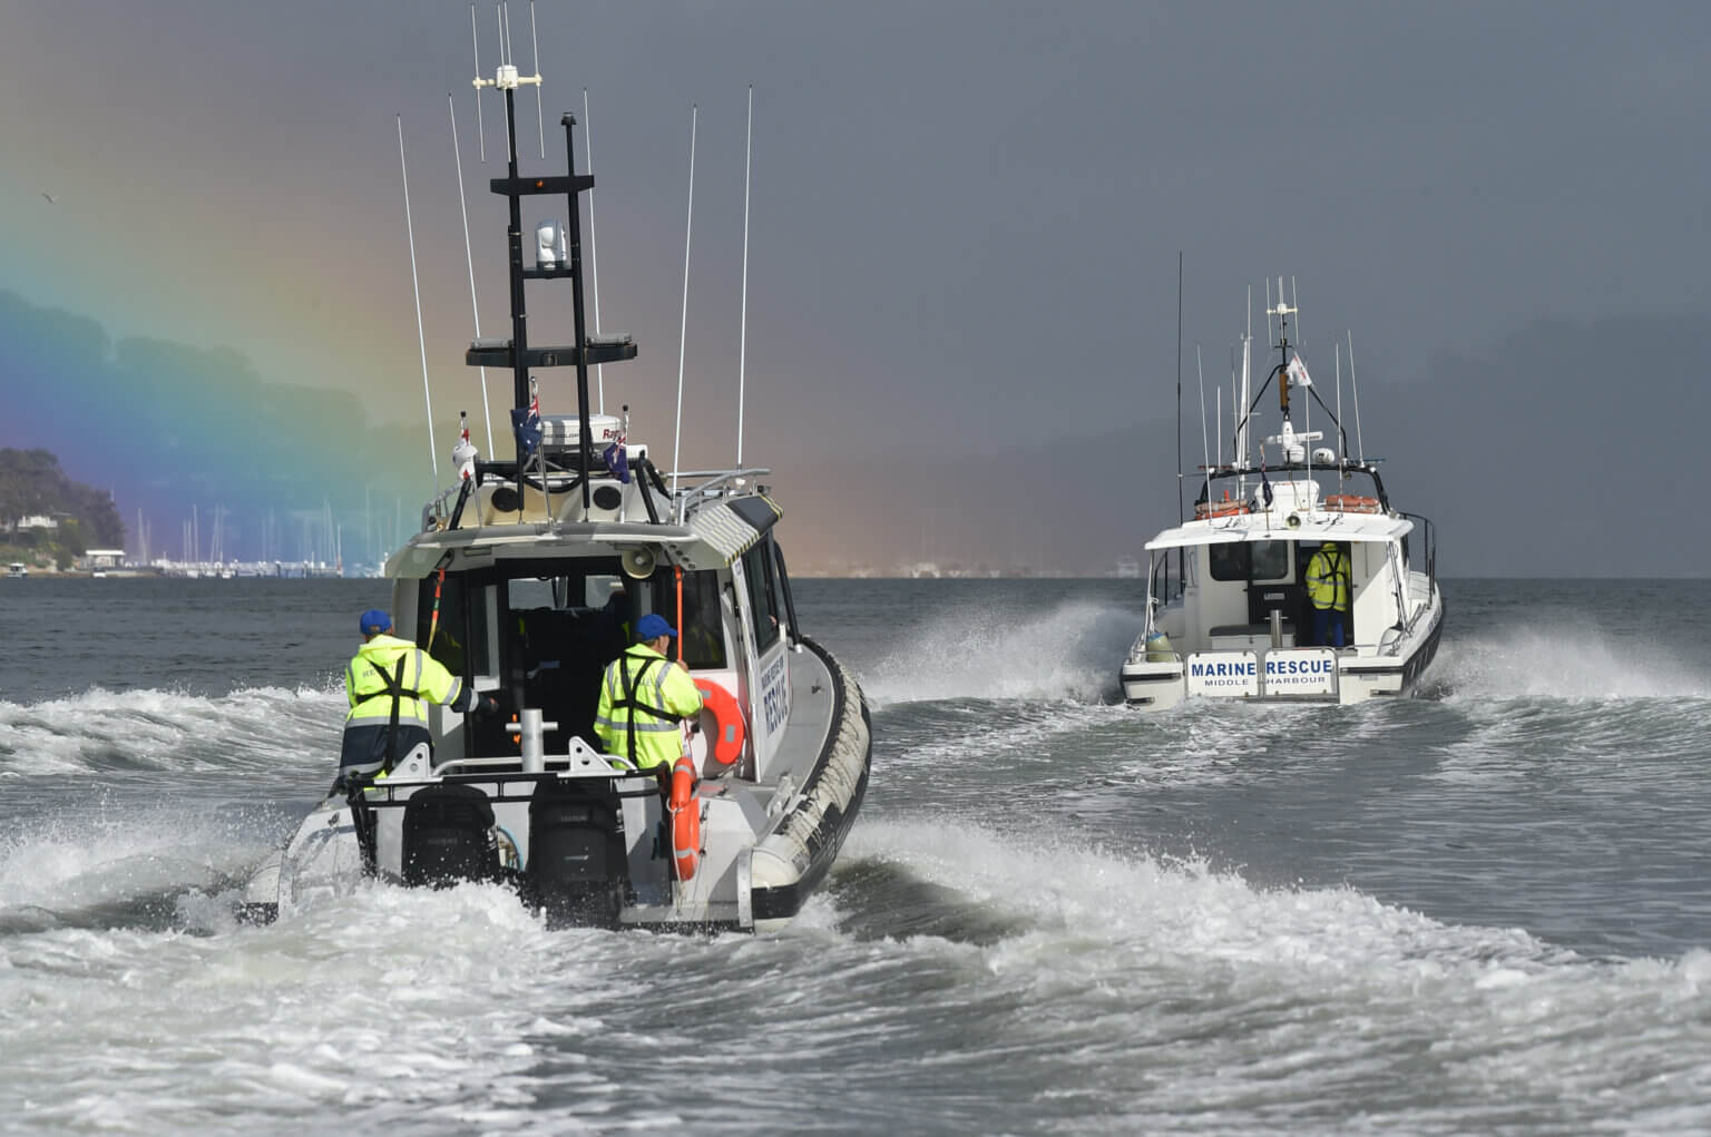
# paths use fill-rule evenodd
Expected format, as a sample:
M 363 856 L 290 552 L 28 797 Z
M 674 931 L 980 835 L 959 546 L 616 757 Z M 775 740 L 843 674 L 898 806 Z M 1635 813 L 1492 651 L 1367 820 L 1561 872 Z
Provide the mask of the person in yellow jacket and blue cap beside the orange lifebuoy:
M 683 754 L 678 720 L 702 711 L 702 692 L 690 672 L 666 658 L 676 634 L 664 616 L 638 619 L 636 643 L 607 665 L 594 711 L 594 733 L 607 754 L 660 776 Z

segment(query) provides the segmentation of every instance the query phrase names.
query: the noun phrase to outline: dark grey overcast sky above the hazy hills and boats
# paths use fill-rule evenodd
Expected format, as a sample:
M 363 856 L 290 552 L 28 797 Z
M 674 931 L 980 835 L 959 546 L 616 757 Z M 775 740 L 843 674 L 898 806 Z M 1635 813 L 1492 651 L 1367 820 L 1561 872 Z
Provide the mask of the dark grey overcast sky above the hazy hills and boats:
M 510 15 L 530 70 L 529 5 Z M 1129 489 L 1131 516 L 1100 515 L 1138 547 L 1175 513 L 1179 251 L 1187 398 L 1196 345 L 1208 378 L 1227 376 L 1246 291 L 1292 277 L 1316 374 L 1353 332 L 1369 451 L 1401 453 L 1430 422 L 1425 453 L 1453 458 L 1458 419 L 1487 414 L 1480 392 L 1458 385 L 1471 405 L 1437 407 L 1412 388 L 1456 359 L 1504 383 L 1530 361 L 1494 352 L 1540 321 L 1596 337 L 1651 318 L 1690 335 L 1711 311 L 1711 5 L 541 0 L 536 17 L 548 166 L 563 156 L 558 111 L 580 116 L 587 87 L 602 327 L 642 345 L 606 371 L 609 402 L 628 400 L 635 434 L 667 455 L 700 108 L 684 465 L 734 451 L 753 84 L 744 457 L 789 472 L 816 510 L 864 494 L 850 479 L 866 457 L 984 460 L 1128 433 L 1150 463 L 1167 457 L 1167 484 Z M 477 29 L 491 70 L 491 3 Z M 484 191 L 500 171 L 476 162 L 471 72 L 467 3 L 10 0 L 0 289 L 113 337 L 231 347 L 263 381 L 356 392 L 373 422 L 419 426 L 402 115 L 445 434 L 481 400 L 462 366 L 448 92 L 484 330 L 505 315 L 503 212 Z M 534 97 L 518 103 L 534 147 Z M 486 109 L 493 157 L 498 103 Z M 542 323 L 563 311 L 536 304 Z M 1646 347 L 1631 345 L 1625 383 L 1656 385 L 1663 405 L 1701 385 L 1646 374 Z M 1555 390 L 1608 380 L 1571 368 Z M 14 349 L 0 395 L 53 381 Z M 503 400 L 503 381 L 491 392 Z M 565 380 L 544 400 L 559 409 L 570 392 Z M 1388 414 L 1401 405 L 1408 419 Z M 1644 448 L 1646 417 L 1605 415 L 1605 445 Z M 0 445 L 27 429 L 0 426 Z M 1194 410 L 1194 450 L 1198 436 Z M 426 465 L 424 451 L 400 462 Z M 835 480 L 821 458 L 840 463 Z M 1444 465 L 1386 480 L 1454 511 L 1478 482 Z M 965 492 L 975 513 L 1003 508 L 996 491 Z M 780 498 L 790 510 L 785 484 Z M 915 511 L 907 540 L 881 528 L 840 540 L 816 521 L 797 540 L 850 561 L 921 544 Z M 1465 552 L 1448 564 L 1560 571 Z

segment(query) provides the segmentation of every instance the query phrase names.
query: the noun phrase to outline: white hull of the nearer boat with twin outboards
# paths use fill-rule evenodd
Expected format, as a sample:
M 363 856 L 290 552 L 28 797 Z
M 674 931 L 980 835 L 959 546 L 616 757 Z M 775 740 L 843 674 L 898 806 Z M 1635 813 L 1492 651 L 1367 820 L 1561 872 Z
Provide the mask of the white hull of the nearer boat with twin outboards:
M 873 742 L 856 679 L 802 639 L 787 745 L 813 759 L 772 785 L 707 778 L 696 872 L 676 879 L 652 775 L 614 771 L 580 740 L 549 769 L 433 769 L 426 751 L 392 776 L 329 797 L 252 875 L 241 915 L 265 922 L 368 879 L 513 887 L 556 925 L 772 932 L 830 872 L 867 788 Z M 806 754 L 802 756 L 806 759 Z

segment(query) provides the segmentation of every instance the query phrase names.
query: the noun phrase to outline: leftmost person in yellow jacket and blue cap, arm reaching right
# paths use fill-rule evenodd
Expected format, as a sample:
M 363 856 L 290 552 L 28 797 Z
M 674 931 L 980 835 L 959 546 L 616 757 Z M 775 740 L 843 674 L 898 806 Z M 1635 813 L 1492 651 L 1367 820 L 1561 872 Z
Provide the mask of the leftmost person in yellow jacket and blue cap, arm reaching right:
M 428 733 L 428 703 L 471 715 L 496 715 L 498 699 L 465 687 L 436 658 L 392 631 L 392 617 L 380 609 L 358 621 L 363 646 L 344 669 L 344 694 L 351 713 L 344 718 L 339 775 L 373 775 L 392 766 L 417 744 L 433 745 Z

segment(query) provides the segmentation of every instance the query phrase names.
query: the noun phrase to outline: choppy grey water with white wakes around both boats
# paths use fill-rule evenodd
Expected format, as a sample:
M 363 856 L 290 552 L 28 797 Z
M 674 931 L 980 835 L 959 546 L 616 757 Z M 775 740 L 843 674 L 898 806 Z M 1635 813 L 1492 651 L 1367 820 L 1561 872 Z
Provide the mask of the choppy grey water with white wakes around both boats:
M 1704 1132 L 1699 588 L 1451 581 L 1425 698 L 1148 718 L 1136 581 L 799 581 L 873 785 L 708 940 L 236 925 L 383 590 L 0 581 L 0 1132 Z

